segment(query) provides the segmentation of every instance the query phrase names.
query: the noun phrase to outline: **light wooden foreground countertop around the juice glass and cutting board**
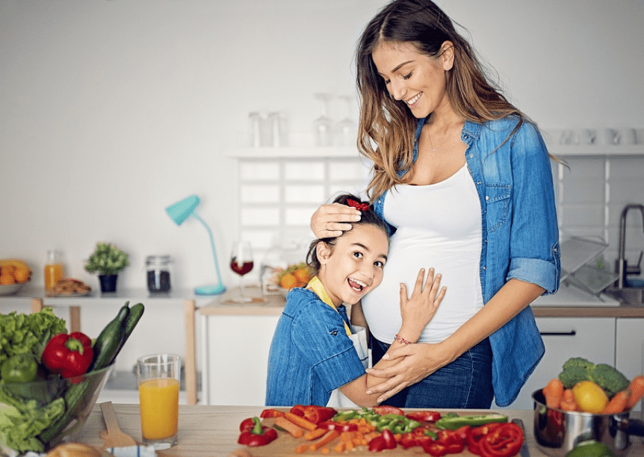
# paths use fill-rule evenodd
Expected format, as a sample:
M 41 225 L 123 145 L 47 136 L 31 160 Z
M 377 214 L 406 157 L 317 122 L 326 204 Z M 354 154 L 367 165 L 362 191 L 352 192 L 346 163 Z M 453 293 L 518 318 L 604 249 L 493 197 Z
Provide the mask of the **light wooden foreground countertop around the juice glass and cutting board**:
M 202 456 L 222 456 L 226 457 L 236 449 L 240 449 L 237 444 L 239 436 L 238 426 L 242 420 L 259 415 L 264 409 L 263 406 L 186 406 L 179 405 L 179 443 L 170 449 L 159 453 L 159 456 L 181 456 L 181 457 L 202 457 Z M 141 417 L 136 404 L 115 404 L 116 418 L 120 428 L 125 433 L 134 437 L 135 440 L 141 440 Z M 440 410 L 438 410 L 440 411 Z M 485 411 L 489 412 L 489 411 Z M 458 413 L 474 414 L 481 411 L 460 410 Z M 530 450 L 530 457 L 546 457 L 542 452 L 532 432 L 533 430 L 533 411 L 503 410 L 501 413 L 508 415 L 509 418 L 519 418 L 523 420 L 526 427 L 526 442 Z M 100 407 L 94 406 L 91 414 L 85 424 L 80 438 L 81 442 L 89 445 L 100 446 L 102 440 L 98 438 L 98 433 L 105 429 L 105 422 L 102 420 Z M 631 438 L 631 456 L 641 456 L 644 453 L 644 445 L 638 437 Z M 274 447 L 256 447 L 246 448 L 251 452 L 251 456 L 272 456 L 275 454 Z M 364 449 L 364 448 L 362 448 Z M 404 451 L 402 447 L 397 447 L 395 451 L 386 451 L 386 455 L 406 455 L 414 454 L 413 451 L 418 449 L 409 449 Z M 320 452 L 308 452 L 304 455 L 321 455 Z M 373 456 L 366 449 L 364 451 L 352 451 L 352 456 Z M 422 451 L 421 451 L 422 454 Z M 279 453 L 279 455 L 298 456 L 295 454 L 295 447 L 290 454 Z M 427 455 L 427 454 L 422 454 Z M 464 451 L 461 456 L 472 456 Z

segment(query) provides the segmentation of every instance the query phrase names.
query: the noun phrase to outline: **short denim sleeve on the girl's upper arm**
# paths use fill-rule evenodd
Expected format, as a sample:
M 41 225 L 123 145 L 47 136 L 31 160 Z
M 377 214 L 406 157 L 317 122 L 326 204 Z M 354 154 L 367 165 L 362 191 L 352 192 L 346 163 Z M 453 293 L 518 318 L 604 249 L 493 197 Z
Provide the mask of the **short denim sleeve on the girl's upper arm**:
M 330 306 L 298 313 L 293 321 L 292 338 L 328 392 L 365 373 L 342 318 Z

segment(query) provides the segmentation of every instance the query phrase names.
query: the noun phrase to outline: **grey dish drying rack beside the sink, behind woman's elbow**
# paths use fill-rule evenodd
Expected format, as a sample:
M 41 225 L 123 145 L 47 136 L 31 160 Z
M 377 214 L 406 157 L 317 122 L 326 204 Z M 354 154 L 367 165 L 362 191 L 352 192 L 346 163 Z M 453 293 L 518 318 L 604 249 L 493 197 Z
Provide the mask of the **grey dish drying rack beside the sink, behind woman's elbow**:
M 560 283 L 578 287 L 603 301 L 600 294 L 617 280 L 618 274 L 600 269 L 590 262 L 607 247 L 608 244 L 603 239 L 593 240 L 572 236 L 564 240 L 560 246 L 562 269 Z

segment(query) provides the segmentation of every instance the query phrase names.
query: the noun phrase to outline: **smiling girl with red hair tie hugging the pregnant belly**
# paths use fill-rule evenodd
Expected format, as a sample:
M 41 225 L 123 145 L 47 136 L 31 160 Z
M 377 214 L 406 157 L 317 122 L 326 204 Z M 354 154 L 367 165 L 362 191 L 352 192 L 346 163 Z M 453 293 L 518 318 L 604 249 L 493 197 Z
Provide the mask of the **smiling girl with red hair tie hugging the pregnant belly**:
M 350 327 L 343 303 L 358 303 L 380 284 L 389 235 L 382 219 L 357 197 L 342 195 L 335 202 L 361 210 L 362 217 L 341 236 L 311 244 L 307 262 L 316 276 L 307 287 L 289 292 L 271 343 L 266 391 L 270 406 L 346 406 L 337 400 L 344 396 L 359 406 L 377 404 L 378 394 L 366 391 L 382 379 L 366 375 L 366 332 Z M 392 348 L 415 342 L 445 295 L 433 269 L 425 285 L 423 279 L 420 269 L 411 298 L 400 285 L 403 322 Z M 391 365 L 385 358 L 377 368 Z

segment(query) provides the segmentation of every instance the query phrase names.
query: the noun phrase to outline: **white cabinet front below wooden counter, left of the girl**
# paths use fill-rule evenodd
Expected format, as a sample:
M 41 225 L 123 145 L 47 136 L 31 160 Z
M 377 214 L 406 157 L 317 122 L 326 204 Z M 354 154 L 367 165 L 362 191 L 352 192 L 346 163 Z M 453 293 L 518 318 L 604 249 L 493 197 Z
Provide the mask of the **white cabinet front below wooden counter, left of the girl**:
M 271 340 L 280 316 L 202 316 L 201 404 L 263 405 Z

